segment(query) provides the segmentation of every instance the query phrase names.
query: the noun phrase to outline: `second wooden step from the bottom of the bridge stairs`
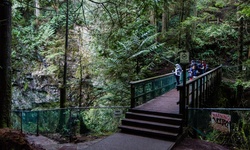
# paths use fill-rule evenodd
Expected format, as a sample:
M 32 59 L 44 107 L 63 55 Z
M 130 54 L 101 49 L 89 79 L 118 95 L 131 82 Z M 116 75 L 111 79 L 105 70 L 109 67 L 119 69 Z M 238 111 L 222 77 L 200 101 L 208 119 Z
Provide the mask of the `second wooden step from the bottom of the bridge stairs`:
M 122 120 L 122 125 L 161 130 L 161 131 L 172 132 L 172 133 L 180 133 L 181 131 L 180 125 L 171 125 L 171 124 L 166 124 L 166 123 L 144 121 L 144 120 L 137 120 L 137 119 L 128 119 L 128 118 L 125 118 Z

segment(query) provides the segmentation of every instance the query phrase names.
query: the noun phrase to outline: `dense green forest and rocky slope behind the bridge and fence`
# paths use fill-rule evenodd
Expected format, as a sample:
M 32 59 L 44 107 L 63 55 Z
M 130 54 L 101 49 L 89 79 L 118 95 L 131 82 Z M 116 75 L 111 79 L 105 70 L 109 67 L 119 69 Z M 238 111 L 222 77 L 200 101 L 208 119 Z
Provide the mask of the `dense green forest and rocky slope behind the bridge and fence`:
M 223 64 L 230 86 L 248 89 L 249 6 L 13 0 L 12 109 L 129 106 L 129 82 L 170 72 L 182 50 L 210 68 Z

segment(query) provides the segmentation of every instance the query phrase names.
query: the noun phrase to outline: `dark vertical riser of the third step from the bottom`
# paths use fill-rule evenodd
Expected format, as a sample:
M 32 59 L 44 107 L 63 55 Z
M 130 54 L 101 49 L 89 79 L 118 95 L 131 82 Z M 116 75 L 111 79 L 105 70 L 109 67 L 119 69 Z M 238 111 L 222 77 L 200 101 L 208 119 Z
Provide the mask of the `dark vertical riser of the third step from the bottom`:
M 181 125 L 182 124 L 181 120 L 155 118 L 155 117 L 150 117 L 150 116 L 138 116 L 138 115 L 134 115 L 134 114 L 126 114 L 126 118 L 159 122 L 159 123 L 166 123 L 166 124 L 172 124 L 172 125 Z

